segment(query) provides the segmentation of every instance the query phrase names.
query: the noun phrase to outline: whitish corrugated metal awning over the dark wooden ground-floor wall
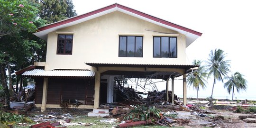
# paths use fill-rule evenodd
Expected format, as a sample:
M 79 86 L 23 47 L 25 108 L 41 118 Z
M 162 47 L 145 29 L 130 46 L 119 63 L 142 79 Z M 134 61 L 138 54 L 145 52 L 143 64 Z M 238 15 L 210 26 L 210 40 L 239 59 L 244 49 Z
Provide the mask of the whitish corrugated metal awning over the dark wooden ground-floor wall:
M 33 69 L 22 73 L 22 76 L 59 76 L 59 77 L 93 77 L 95 72 L 88 70 L 52 70 Z

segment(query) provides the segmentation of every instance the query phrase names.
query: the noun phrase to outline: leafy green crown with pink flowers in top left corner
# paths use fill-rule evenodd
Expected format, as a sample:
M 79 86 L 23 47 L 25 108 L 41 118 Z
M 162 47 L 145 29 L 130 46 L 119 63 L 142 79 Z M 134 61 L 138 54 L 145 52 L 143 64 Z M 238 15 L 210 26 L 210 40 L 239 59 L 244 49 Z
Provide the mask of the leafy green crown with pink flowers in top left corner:
M 22 30 L 34 32 L 37 8 L 27 0 L 0 0 L 0 37 L 15 36 Z

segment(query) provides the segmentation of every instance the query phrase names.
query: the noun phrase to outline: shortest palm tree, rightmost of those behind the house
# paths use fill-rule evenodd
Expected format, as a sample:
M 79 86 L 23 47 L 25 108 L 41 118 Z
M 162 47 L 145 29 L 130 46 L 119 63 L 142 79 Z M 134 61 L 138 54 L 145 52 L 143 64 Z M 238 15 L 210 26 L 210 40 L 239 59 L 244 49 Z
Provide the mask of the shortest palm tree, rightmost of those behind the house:
M 230 91 L 232 90 L 232 101 L 234 99 L 234 90 L 237 88 L 237 91 L 239 92 L 240 90 L 246 91 L 247 89 L 247 81 L 243 78 L 244 75 L 236 72 L 234 75 L 232 74 L 231 77 L 226 77 L 228 79 L 228 82 L 224 83 L 224 88 L 227 88 L 229 94 Z

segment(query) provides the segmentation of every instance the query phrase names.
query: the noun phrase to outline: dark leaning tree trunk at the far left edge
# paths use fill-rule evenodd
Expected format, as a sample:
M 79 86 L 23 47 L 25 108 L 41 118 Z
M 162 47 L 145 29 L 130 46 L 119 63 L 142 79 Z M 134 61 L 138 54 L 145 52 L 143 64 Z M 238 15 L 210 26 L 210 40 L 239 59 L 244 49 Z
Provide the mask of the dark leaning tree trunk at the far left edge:
M 0 73 L 1 73 L 1 84 L 4 88 L 4 92 L 6 94 L 5 102 L 8 105 L 8 109 L 10 109 L 10 95 L 9 95 L 9 89 L 6 81 L 6 72 L 3 64 L 0 64 Z

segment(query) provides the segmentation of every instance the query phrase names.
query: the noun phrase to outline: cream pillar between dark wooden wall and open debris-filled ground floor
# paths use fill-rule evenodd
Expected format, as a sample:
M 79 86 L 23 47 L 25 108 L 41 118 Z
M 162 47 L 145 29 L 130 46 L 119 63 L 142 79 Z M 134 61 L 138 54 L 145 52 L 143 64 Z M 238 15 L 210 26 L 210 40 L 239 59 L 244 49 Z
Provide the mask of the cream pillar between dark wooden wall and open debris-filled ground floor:
M 94 109 L 99 108 L 100 103 L 100 86 L 101 86 L 101 72 L 95 73 L 95 86 L 94 86 Z

